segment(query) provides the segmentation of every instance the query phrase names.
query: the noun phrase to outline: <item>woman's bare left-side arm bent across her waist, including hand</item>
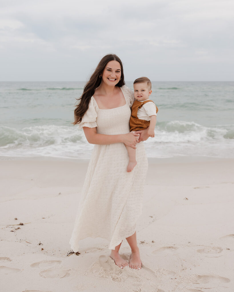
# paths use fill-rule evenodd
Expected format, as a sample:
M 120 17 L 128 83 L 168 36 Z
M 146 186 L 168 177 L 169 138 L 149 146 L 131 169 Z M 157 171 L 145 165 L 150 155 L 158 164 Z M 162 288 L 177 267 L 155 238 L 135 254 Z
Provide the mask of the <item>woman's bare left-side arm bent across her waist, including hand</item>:
M 97 128 L 83 127 L 85 137 L 90 144 L 108 145 L 114 143 L 124 143 L 134 149 L 136 149 L 137 133 L 127 133 L 120 135 L 104 135 L 98 134 Z

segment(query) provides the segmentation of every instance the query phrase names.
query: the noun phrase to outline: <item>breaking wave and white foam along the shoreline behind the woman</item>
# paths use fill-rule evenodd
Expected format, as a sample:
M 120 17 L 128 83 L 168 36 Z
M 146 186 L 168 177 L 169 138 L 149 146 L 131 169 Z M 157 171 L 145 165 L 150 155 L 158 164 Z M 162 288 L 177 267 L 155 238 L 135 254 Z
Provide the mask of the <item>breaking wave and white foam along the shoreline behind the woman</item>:
M 155 127 L 155 138 L 149 138 L 144 144 L 148 157 L 192 155 L 191 149 L 199 155 L 210 152 L 211 156 L 234 157 L 228 150 L 234 145 L 233 133 L 234 129 L 227 130 L 223 126 L 205 127 L 186 121 L 161 122 Z M 0 137 L 0 156 L 88 158 L 93 148 L 77 126 L 43 125 L 22 129 L 1 126 Z M 199 145 L 202 147 L 200 152 Z M 223 147 L 227 150 L 223 151 Z

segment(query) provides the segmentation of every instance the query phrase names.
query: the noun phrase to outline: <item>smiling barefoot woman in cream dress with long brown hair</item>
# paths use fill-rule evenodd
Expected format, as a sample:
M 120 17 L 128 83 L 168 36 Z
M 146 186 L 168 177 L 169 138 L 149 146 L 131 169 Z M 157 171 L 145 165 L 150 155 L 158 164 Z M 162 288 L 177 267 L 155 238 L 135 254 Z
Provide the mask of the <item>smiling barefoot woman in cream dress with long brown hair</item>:
M 105 238 L 110 242 L 110 257 L 116 265 L 141 269 L 136 221 L 141 214 L 148 167 L 140 141 L 147 139 L 147 130 L 129 133 L 134 96 L 125 86 L 123 65 L 116 55 L 101 59 L 79 100 L 73 124 L 79 124 L 87 141 L 95 145 L 70 239 L 71 248 L 78 251 L 78 241 L 86 237 Z M 124 144 L 136 149 L 137 166 L 130 173 L 126 171 L 128 152 Z M 124 238 L 132 252 L 129 263 L 119 255 Z

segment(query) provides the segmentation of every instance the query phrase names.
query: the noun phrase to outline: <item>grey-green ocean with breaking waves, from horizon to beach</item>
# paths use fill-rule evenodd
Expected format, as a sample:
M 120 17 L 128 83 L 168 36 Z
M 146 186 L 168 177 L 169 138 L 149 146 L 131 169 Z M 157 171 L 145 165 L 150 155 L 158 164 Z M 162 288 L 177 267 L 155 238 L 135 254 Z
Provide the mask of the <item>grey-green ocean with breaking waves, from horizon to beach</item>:
M 85 82 L 0 82 L 0 159 L 88 159 L 93 145 L 73 126 Z M 133 82 L 126 82 L 133 89 Z M 234 158 L 234 82 L 152 82 L 159 108 L 147 157 Z

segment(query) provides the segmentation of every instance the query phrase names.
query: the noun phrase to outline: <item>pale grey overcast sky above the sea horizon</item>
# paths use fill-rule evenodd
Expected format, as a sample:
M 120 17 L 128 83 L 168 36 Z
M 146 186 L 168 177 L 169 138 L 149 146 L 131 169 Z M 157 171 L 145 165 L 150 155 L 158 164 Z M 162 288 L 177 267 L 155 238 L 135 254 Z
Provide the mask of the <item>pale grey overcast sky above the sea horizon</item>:
M 0 0 L 0 81 L 84 81 L 108 53 L 125 80 L 233 81 L 234 1 Z

